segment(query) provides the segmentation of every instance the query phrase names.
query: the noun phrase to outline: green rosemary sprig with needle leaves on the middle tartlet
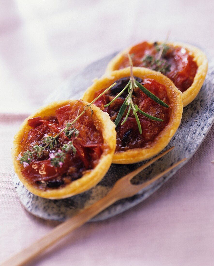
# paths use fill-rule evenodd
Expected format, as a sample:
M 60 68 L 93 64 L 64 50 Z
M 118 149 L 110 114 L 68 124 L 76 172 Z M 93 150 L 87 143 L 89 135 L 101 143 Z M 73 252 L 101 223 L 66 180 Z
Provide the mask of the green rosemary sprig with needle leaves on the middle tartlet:
M 104 107 L 107 107 L 109 106 L 112 102 L 114 102 L 127 88 L 128 88 L 128 95 L 127 97 L 125 98 L 119 112 L 118 112 L 118 115 L 115 119 L 115 125 L 118 126 L 120 120 L 122 119 L 124 113 L 125 113 L 125 110 L 127 109 L 128 107 L 128 112 L 123 120 L 123 122 L 121 123 L 121 125 L 123 125 L 128 116 L 129 116 L 129 113 L 130 111 L 132 110 L 133 111 L 133 114 L 135 116 L 135 119 L 136 119 L 136 122 L 137 122 L 137 125 L 138 125 L 138 128 L 139 128 L 139 132 L 140 134 L 142 134 L 142 128 L 141 128 L 141 124 L 140 124 L 140 120 L 139 120 L 139 117 L 137 115 L 137 113 L 139 112 L 140 114 L 144 115 L 145 117 L 148 117 L 152 120 L 155 120 L 155 121 L 161 121 L 163 122 L 162 119 L 160 118 L 157 118 L 157 117 L 153 117 L 152 115 L 149 115 L 145 112 L 143 112 L 142 110 L 139 109 L 139 107 L 133 103 L 132 101 L 132 93 L 134 91 L 135 88 L 139 88 L 140 90 L 142 90 L 142 92 L 144 92 L 149 98 L 153 99 L 155 102 L 157 102 L 158 104 L 164 106 L 164 107 L 169 107 L 165 102 L 161 101 L 161 99 L 159 99 L 156 95 L 154 95 L 153 93 L 151 93 L 149 90 L 147 90 L 143 85 L 141 85 L 135 78 L 134 78 L 134 75 L 133 75 L 133 63 L 132 63 L 132 59 L 131 59 L 131 56 L 129 55 L 128 53 L 128 58 L 129 58 L 129 64 L 130 64 L 130 80 L 128 82 L 128 84 L 124 87 L 124 89 L 121 90 L 120 93 L 118 93 L 118 95 L 111 101 L 109 102 L 108 104 L 104 105 Z

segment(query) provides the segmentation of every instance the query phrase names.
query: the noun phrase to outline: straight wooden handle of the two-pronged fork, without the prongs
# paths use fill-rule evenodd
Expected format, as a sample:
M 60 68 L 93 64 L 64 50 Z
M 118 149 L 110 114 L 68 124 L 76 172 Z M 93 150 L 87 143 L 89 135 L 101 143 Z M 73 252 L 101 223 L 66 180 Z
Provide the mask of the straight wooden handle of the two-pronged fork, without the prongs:
M 106 209 L 108 206 L 112 205 L 118 198 L 114 193 L 108 193 L 104 198 L 95 202 L 90 207 L 81 211 L 77 215 L 72 218 L 69 218 L 65 222 L 56 226 L 52 229 L 48 234 L 44 237 L 40 238 L 21 252 L 17 253 L 7 261 L 5 261 L 2 266 L 20 266 L 24 265 L 27 262 L 31 261 L 37 255 L 42 253 L 45 249 L 52 246 L 58 240 L 74 231 L 91 218 L 93 218 L 96 214 L 100 213 L 102 210 Z

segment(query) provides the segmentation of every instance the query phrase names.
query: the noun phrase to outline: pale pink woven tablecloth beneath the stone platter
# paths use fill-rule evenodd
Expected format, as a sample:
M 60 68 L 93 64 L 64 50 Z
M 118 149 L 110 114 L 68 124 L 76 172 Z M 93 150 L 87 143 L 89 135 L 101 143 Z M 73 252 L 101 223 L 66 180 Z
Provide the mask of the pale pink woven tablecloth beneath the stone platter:
M 213 51 L 213 1 L 0 1 L 1 261 L 57 225 L 23 209 L 11 183 L 23 119 L 92 61 L 143 39 Z M 195 156 L 131 210 L 89 223 L 31 265 L 213 265 L 214 128 Z

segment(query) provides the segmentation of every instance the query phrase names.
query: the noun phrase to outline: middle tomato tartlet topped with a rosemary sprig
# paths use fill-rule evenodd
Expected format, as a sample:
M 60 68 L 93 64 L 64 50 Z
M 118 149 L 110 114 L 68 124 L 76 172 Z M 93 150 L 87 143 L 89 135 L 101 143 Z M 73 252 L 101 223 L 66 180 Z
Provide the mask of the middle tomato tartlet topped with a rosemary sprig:
M 128 109 L 126 109 L 123 118 L 116 127 L 117 143 L 112 162 L 118 164 L 136 163 L 158 154 L 170 142 L 182 118 L 181 91 L 175 87 L 169 78 L 161 73 L 141 67 L 133 67 L 133 75 L 137 82 L 143 84 L 147 90 L 166 103 L 169 108 L 153 101 L 139 88 L 133 90 L 133 104 L 137 105 L 141 111 L 162 120 L 162 122 L 151 120 L 139 113 L 139 123 L 142 128 L 142 134 L 140 134 L 132 111 L 130 111 L 127 120 L 123 124 L 128 112 Z M 128 88 L 108 107 L 105 107 L 105 105 L 118 95 L 128 83 L 129 78 L 130 68 L 115 70 L 110 75 L 105 75 L 96 80 L 83 95 L 83 100 L 93 101 L 97 95 L 116 82 L 116 85 L 111 90 L 94 102 L 103 112 L 107 112 L 111 120 L 115 122 L 119 110 L 127 97 Z

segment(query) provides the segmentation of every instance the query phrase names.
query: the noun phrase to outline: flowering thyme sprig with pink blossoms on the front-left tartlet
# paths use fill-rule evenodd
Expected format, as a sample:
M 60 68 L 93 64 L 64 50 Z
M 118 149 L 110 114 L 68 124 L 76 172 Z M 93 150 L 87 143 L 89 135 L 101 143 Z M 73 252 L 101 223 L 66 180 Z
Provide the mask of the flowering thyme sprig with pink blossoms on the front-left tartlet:
M 77 128 L 75 128 L 75 123 L 77 120 L 90 108 L 91 114 L 93 114 L 93 111 L 91 109 L 91 105 L 104 93 L 106 93 L 109 89 L 111 89 L 113 86 L 116 85 L 116 82 L 112 84 L 110 87 L 108 87 L 104 92 L 99 94 L 92 102 L 90 102 L 88 105 L 84 106 L 83 111 L 79 114 L 77 113 L 77 117 L 72 121 L 68 122 L 66 124 L 66 127 L 63 128 L 57 135 L 55 136 L 48 136 L 48 134 L 45 134 L 43 137 L 43 143 L 45 146 L 42 145 L 34 145 L 32 148 L 32 151 L 28 150 L 26 152 L 23 152 L 23 155 L 21 153 L 16 157 L 16 159 L 23 164 L 24 167 L 28 166 L 31 164 L 33 160 L 33 155 L 36 156 L 37 158 L 40 158 L 42 156 L 42 153 L 45 148 L 49 147 L 50 150 L 53 149 L 53 147 L 57 144 L 57 137 L 61 135 L 63 132 L 65 133 L 65 136 L 68 137 L 69 139 L 72 139 L 71 141 L 68 142 L 68 144 L 64 144 L 61 149 L 58 150 L 56 153 L 50 153 L 50 160 L 51 164 L 55 167 L 61 167 L 62 163 L 64 163 L 66 153 L 69 152 L 70 150 L 73 151 L 73 153 L 76 152 L 75 147 L 73 146 L 74 139 L 78 137 L 79 131 Z

